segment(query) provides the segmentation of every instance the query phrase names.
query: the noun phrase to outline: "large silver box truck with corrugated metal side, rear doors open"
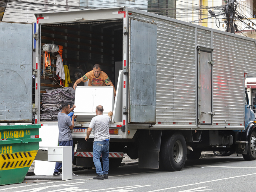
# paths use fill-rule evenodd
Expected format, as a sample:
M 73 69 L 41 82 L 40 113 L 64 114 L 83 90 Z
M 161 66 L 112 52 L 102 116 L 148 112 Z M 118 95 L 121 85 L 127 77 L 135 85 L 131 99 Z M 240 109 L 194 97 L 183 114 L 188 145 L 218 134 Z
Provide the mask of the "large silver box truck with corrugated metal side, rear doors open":
M 245 160 L 256 159 L 256 121 L 245 88 L 245 79 L 256 77 L 255 39 L 128 7 L 38 13 L 36 17 L 33 115 L 42 128 L 57 125 L 40 120 L 45 88 L 40 78 L 42 45 L 53 43 L 63 45 L 64 64 L 95 61 L 112 74 L 110 79 L 115 76 L 115 64 L 122 61 L 122 110 L 109 125 L 110 165 L 119 166 L 123 153 L 139 158 L 139 168 L 169 171 L 181 170 L 186 157 L 198 159 L 202 151 L 237 152 Z M 14 25 L 1 22 L 0 30 L 8 24 Z M 31 33 L 32 27 L 28 29 Z M 11 79 L 3 69 L 8 62 L 3 61 L 1 50 L 3 46 L 0 72 Z M 27 74 L 31 73 L 29 69 Z M 10 83 L 1 88 L 10 88 Z M 2 91 L 1 101 L 5 101 Z M 20 108 L 2 106 L 0 121 L 6 122 L 11 113 L 20 120 L 32 120 Z M 72 133 L 76 164 L 85 167 L 93 166 L 93 134 L 84 140 L 89 123 L 77 121 Z

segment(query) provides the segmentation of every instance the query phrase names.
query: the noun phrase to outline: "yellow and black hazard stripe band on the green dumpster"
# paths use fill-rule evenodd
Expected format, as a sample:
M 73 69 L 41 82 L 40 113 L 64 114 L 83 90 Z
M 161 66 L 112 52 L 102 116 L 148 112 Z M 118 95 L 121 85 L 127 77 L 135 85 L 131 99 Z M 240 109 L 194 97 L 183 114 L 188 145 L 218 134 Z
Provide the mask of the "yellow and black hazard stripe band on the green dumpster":
M 0 170 L 30 167 L 36 155 L 37 150 L 0 154 Z

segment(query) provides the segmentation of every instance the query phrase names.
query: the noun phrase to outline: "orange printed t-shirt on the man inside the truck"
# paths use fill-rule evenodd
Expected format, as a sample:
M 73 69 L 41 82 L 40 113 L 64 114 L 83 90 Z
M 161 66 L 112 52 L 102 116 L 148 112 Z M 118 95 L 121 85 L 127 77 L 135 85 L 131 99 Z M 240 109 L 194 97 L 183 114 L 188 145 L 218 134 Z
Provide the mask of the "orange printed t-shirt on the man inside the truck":
M 86 73 L 80 79 L 83 82 L 86 82 L 89 80 L 89 83 L 88 83 L 89 86 L 106 86 L 106 85 L 110 85 L 112 83 L 111 80 L 109 79 L 109 77 L 107 76 L 107 74 L 104 73 L 103 71 L 101 71 L 98 78 L 95 77 L 93 70 L 92 70 L 92 71 L 89 71 L 88 73 Z

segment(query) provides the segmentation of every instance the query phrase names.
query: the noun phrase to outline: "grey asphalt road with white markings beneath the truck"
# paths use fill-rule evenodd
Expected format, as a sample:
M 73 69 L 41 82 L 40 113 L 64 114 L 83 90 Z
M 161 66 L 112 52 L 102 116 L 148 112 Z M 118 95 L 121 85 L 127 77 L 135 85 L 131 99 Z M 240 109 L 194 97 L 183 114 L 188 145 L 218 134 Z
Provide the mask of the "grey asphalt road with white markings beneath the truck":
M 138 165 L 129 165 L 109 171 L 109 179 L 104 180 L 92 179 L 96 176 L 95 170 L 75 173 L 79 176 L 69 181 L 61 181 L 61 177 L 29 176 L 24 183 L 1 186 L 0 192 L 256 191 L 256 160 L 245 161 L 241 155 L 187 160 L 178 172 L 139 169 Z M 43 181 L 34 182 L 38 180 Z

